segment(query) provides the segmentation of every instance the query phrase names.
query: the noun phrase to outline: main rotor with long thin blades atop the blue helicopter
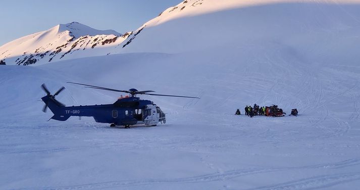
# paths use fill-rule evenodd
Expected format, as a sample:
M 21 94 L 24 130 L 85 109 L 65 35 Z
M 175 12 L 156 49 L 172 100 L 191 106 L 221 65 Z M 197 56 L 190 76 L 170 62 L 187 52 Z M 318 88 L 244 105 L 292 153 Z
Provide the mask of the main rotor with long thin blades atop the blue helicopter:
M 95 89 L 101 89 L 101 90 L 125 92 L 125 93 L 129 93 L 129 94 L 130 94 L 130 97 L 136 97 L 136 94 L 146 94 L 146 95 L 150 95 L 150 96 L 180 97 L 180 98 L 200 99 L 200 98 L 198 98 L 198 97 L 185 97 L 185 96 L 175 96 L 175 95 L 148 93 L 148 92 L 155 92 L 155 91 L 152 91 L 152 90 L 138 91 L 138 90 L 135 89 L 135 88 L 131 88 L 131 89 L 129 89 L 129 90 L 117 90 L 117 89 L 112 89 L 112 88 L 105 88 L 105 87 L 101 87 L 101 86 L 93 86 L 93 85 L 81 84 L 81 83 L 76 83 L 76 82 L 67 82 L 67 83 L 83 85 L 83 86 L 85 86 L 85 88 L 95 88 Z

